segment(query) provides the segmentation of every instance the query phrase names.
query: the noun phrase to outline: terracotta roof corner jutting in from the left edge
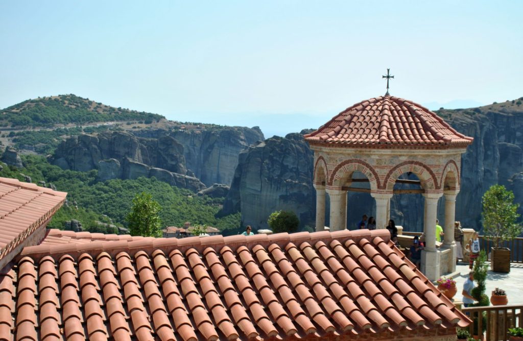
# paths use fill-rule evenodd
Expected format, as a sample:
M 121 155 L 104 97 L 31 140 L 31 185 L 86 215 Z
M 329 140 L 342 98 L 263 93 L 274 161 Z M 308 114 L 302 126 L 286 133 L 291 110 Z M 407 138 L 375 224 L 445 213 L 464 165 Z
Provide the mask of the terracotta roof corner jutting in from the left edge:
M 46 224 L 65 201 L 64 192 L 0 177 L 0 264 Z M 34 244 L 38 241 L 33 241 Z M 34 245 L 33 244 L 33 245 Z M 8 262 L 8 260 L 7 260 Z

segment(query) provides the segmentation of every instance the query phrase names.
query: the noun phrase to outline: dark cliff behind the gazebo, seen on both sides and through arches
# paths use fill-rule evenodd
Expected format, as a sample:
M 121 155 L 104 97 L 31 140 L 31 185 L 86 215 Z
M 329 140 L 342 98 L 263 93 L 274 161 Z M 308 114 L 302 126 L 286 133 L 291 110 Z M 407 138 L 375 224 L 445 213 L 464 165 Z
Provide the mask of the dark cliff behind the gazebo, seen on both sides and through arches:
M 480 108 L 437 111 L 452 127 L 474 138 L 474 143 L 462 156 L 461 192 L 456 207 L 456 219 L 466 227 L 481 226 L 481 197 L 493 184 L 503 184 L 513 190 L 516 201 L 523 203 L 521 100 L 523 98 Z M 262 228 L 272 211 L 291 209 L 299 213 L 302 224 L 313 224 L 312 155 L 299 134 L 289 134 L 286 139 L 269 139 L 245 151 L 240 155 L 224 212 L 241 210 L 244 224 Z M 288 172 L 288 169 L 295 170 Z M 348 203 L 349 228 L 354 228 L 361 214 L 373 214 L 376 209 L 368 194 L 350 193 Z M 407 230 L 421 231 L 423 205 L 421 195 L 396 195 L 391 202 L 391 218 Z M 440 221 L 444 220 L 442 201 L 438 217 Z

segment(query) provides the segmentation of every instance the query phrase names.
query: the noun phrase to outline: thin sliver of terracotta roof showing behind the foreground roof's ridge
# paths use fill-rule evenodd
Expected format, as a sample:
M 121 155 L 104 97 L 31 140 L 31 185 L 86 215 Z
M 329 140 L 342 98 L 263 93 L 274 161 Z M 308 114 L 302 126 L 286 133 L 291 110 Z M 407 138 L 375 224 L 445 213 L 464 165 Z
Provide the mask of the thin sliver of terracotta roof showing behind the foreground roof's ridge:
M 69 243 L 90 243 L 93 241 L 137 241 L 143 240 L 142 236 L 131 236 L 129 234 L 103 234 L 90 232 L 62 231 L 57 229 L 47 230 L 46 237 L 40 245 L 61 245 Z M 150 239 L 154 239 L 150 237 Z

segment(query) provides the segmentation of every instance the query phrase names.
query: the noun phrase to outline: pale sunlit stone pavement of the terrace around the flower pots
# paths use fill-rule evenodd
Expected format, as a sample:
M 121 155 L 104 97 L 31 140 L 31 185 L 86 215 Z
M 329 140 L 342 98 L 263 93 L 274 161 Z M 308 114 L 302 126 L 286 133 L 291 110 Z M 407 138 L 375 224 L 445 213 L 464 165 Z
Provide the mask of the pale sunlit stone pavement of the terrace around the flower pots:
M 469 265 L 460 262 L 456 266 L 456 271 L 460 271 L 461 276 L 454 278 L 456 281 L 456 287 L 458 288 L 458 292 L 454 298 L 461 301 L 463 298 L 463 295 L 461 294 L 463 283 L 469 276 Z M 477 285 L 477 283 L 474 284 Z M 508 304 L 523 305 L 523 264 L 511 263 L 510 272 L 508 274 L 501 274 L 499 272 L 488 270 L 485 293 L 489 298 L 492 290 L 495 288 L 503 289 L 507 292 Z

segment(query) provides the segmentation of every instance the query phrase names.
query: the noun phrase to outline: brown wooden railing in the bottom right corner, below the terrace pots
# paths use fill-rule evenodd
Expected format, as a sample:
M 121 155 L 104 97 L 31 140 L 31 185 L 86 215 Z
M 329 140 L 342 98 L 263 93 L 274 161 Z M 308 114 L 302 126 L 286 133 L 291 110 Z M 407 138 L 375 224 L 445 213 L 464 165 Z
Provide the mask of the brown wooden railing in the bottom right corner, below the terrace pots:
M 462 312 L 474 321 L 468 327 L 470 335 L 477 335 L 476 331 L 483 331 L 486 323 L 486 341 L 506 341 L 508 328 L 523 326 L 523 305 L 474 306 L 463 308 Z M 485 316 L 485 321 L 481 317 L 477 318 L 478 316 Z

